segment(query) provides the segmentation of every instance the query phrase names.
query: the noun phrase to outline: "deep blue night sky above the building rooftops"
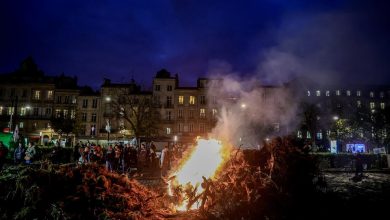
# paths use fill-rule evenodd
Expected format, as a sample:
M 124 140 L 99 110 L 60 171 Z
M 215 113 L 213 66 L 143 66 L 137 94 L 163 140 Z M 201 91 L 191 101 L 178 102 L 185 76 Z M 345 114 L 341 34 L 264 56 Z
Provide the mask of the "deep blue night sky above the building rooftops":
M 31 55 L 46 74 L 150 86 L 156 71 L 279 83 L 390 84 L 386 1 L 2 0 L 0 72 Z

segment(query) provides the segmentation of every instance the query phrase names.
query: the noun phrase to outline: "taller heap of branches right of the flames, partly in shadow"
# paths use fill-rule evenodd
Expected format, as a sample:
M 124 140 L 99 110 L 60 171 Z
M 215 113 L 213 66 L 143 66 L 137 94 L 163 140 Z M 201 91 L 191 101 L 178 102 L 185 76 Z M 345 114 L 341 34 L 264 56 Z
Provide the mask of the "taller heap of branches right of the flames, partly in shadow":
M 319 175 L 314 158 L 290 138 L 276 138 L 260 151 L 247 153 L 233 152 L 216 179 L 174 189 L 176 201 L 189 201 L 187 208 L 196 204 L 200 219 L 308 217 Z M 198 187 L 204 191 L 196 195 Z

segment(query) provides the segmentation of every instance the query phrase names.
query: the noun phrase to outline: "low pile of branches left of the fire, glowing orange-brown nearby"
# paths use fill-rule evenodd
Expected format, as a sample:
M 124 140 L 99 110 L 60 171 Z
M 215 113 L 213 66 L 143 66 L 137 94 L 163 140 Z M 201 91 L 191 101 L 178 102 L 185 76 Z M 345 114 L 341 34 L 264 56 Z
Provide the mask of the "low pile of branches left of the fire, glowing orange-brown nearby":
M 164 200 L 125 175 L 88 165 L 15 166 L 0 174 L 0 219 L 159 219 Z

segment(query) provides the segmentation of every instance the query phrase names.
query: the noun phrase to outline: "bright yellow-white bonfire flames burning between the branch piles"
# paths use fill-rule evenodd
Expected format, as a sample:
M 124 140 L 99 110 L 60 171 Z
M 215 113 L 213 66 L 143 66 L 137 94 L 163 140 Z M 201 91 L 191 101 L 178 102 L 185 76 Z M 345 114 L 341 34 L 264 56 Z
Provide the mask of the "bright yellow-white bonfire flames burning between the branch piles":
M 221 142 L 215 139 L 198 139 L 197 145 L 192 150 L 189 157 L 181 161 L 181 166 L 171 174 L 173 177 L 168 183 L 168 193 L 171 196 L 174 194 L 172 189 L 177 187 L 193 188 L 194 197 L 200 195 L 204 191 L 201 187 L 203 177 L 213 179 L 226 161 L 226 155 L 229 155 Z M 189 207 L 189 199 L 185 198 L 185 195 L 181 196 L 183 199 L 179 201 L 180 204 L 176 206 L 176 210 L 199 208 L 199 202 L 194 202 Z

